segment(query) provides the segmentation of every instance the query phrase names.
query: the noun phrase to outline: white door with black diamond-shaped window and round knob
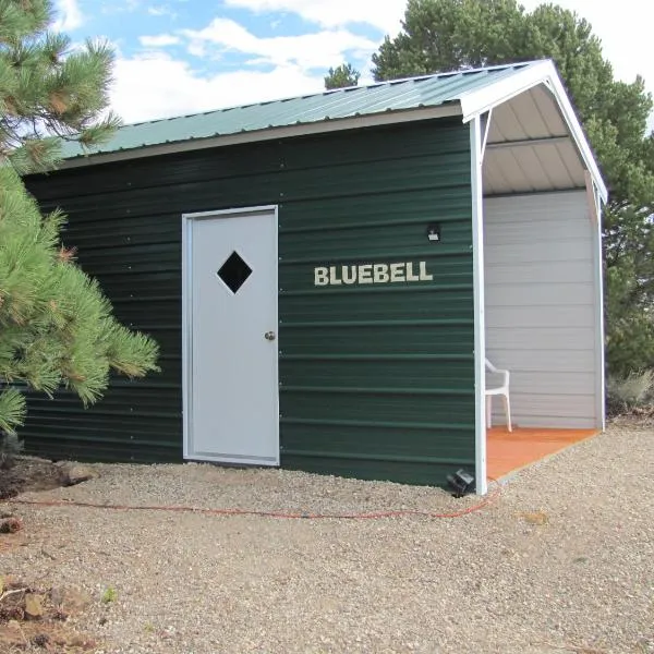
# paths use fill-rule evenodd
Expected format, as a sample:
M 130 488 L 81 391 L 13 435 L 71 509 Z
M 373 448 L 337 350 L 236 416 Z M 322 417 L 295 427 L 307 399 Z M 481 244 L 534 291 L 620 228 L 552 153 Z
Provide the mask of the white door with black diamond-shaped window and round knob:
M 277 209 L 183 217 L 184 458 L 279 464 Z

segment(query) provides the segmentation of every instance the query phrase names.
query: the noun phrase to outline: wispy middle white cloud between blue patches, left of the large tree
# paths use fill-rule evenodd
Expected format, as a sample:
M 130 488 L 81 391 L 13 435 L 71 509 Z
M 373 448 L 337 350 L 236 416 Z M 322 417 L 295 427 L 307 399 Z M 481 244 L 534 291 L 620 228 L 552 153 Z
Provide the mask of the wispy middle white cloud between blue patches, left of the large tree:
M 186 29 L 183 34 L 190 38 L 189 51 L 195 56 L 210 55 L 210 46 L 214 45 L 228 51 L 256 55 L 262 58 L 259 63 L 265 61 L 278 66 L 295 64 L 303 69 L 338 64 L 346 52 L 354 51 L 367 57 L 377 48 L 375 41 L 347 29 L 258 38 L 228 19 L 215 19 L 204 29 Z

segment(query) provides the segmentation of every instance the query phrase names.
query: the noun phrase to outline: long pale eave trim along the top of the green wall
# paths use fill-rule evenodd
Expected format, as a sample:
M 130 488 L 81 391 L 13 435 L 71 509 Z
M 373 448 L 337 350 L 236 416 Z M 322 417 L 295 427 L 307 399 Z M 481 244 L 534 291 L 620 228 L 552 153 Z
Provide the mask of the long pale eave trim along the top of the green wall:
M 209 136 L 207 138 L 192 138 L 189 141 L 178 141 L 174 143 L 144 145 L 141 147 L 128 148 L 112 153 L 92 153 L 88 156 L 78 156 L 73 157 L 72 159 L 64 159 L 57 168 L 58 170 L 68 170 L 71 168 L 82 168 L 98 164 L 109 164 L 111 161 L 126 161 L 129 159 L 142 159 L 145 157 L 156 157 L 158 155 L 170 155 L 173 153 L 207 149 L 210 147 L 223 147 L 228 145 L 239 145 L 242 143 L 261 143 L 263 141 L 289 138 L 291 136 L 307 136 L 311 134 L 325 134 L 328 132 L 341 132 L 344 130 L 356 130 L 379 125 L 395 125 L 398 123 L 448 118 L 453 116 L 461 116 L 461 106 L 457 101 L 449 102 L 448 105 L 440 105 L 438 107 L 423 107 L 421 109 L 404 109 L 400 111 L 384 111 L 382 113 L 371 113 L 368 116 L 332 119 L 319 122 L 289 125 L 284 128 L 266 128 L 264 130 L 253 130 L 252 132 L 227 134 L 225 136 Z

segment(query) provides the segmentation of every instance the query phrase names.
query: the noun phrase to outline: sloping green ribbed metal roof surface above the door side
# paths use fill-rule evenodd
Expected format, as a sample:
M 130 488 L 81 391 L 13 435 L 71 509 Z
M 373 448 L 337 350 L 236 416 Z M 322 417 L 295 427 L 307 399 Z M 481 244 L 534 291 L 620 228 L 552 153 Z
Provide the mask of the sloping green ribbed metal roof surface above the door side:
M 219 109 L 193 116 L 124 125 L 113 138 L 86 154 L 136 150 L 155 145 L 215 138 L 276 128 L 433 108 L 511 77 L 538 62 L 514 63 L 410 80 L 355 86 L 315 95 Z M 64 145 L 66 159 L 81 157 L 76 143 Z

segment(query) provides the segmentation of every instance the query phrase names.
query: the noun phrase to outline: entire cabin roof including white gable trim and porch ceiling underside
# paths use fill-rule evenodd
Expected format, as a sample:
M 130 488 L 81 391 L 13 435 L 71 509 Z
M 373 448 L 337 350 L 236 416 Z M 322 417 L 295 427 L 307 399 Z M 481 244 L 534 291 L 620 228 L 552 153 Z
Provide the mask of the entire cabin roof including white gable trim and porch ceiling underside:
M 119 129 L 84 152 L 64 146 L 62 168 L 303 134 L 487 114 L 487 195 L 582 189 L 586 171 L 608 192 L 588 138 L 550 60 L 425 75 L 154 120 Z

